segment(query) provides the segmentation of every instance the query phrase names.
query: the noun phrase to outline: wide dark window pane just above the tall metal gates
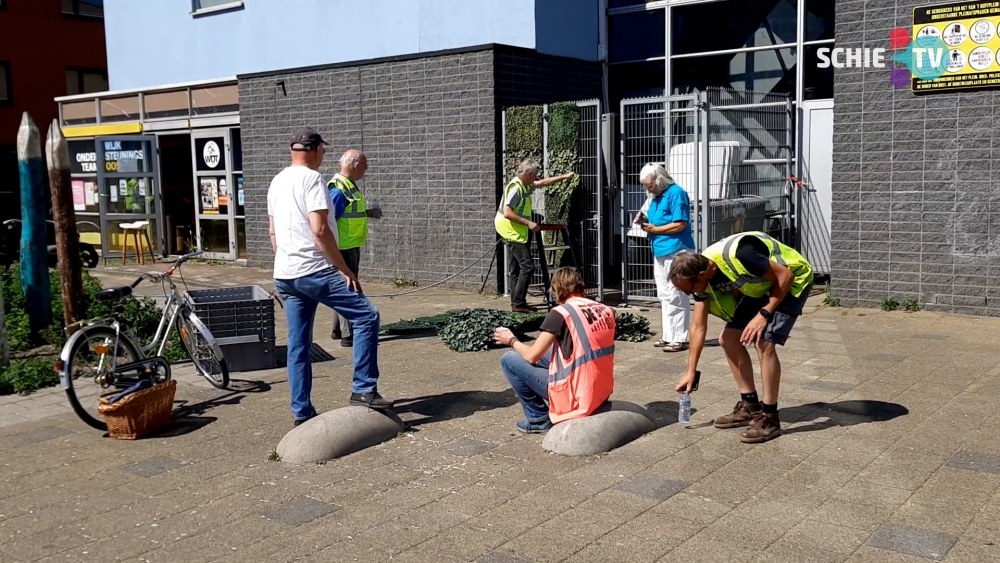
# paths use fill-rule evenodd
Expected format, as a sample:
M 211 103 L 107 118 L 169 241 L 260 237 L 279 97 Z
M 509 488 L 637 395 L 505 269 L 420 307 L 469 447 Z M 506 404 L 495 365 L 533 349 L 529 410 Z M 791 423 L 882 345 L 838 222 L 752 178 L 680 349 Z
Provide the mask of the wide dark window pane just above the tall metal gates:
M 710 86 L 760 93 L 795 93 L 795 49 L 727 53 L 673 60 L 675 94 Z

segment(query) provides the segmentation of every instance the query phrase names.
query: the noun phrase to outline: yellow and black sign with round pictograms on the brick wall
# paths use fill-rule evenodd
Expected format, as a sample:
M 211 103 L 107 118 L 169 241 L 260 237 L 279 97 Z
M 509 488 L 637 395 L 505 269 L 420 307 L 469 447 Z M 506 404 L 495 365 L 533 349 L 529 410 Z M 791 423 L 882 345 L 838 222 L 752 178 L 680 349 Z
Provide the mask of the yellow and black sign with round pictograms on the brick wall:
M 1000 88 L 1000 2 L 961 2 L 913 9 L 913 39 L 937 37 L 948 49 L 944 75 L 910 79 L 915 93 Z M 912 48 L 912 47 L 911 47 Z M 918 58 L 937 55 L 916 53 Z

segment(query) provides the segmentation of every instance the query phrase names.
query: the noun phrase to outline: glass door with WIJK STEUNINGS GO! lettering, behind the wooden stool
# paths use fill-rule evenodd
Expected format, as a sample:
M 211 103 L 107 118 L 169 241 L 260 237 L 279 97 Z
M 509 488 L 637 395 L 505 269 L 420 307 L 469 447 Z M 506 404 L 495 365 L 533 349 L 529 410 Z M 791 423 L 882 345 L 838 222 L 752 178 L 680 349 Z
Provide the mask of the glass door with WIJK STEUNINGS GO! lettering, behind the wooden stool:
M 156 183 L 156 137 L 97 137 L 97 198 L 100 204 L 102 256 L 122 256 L 123 224 L 146 221 L 146 236 L 154 255 L 162 255 L 163 222 L 159 186 Z M 86 189 L 86 184 L 84 184 Z M 84 206 L 86 207 L 86 191 Z M 89 207 L 87 208 L 89 209 Z M 141 241 L 143 251 L 146 241 Z M 134 247 L 134 241 L 130 247 Z M 132 248 L 132 252 L 135 249 Z M 130 254 L 129 256 L 134 256 Z

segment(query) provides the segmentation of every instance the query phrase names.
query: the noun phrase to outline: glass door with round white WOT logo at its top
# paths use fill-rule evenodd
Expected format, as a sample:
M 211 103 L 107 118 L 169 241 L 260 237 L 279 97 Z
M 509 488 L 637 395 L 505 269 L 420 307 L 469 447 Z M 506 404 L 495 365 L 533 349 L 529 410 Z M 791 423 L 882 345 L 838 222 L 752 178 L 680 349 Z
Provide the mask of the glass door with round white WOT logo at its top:
M 191 135 L 198 248 L 206 258 L 236 260 L 237 186 L 229 129 Z

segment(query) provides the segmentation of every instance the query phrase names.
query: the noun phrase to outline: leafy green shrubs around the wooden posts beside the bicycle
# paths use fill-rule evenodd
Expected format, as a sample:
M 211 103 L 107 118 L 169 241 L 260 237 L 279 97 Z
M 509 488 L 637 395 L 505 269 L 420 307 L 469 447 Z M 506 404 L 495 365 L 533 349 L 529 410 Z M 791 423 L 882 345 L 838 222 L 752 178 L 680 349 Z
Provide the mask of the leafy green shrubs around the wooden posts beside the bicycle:
M 51 345 L 57 350 L 66 343 L 66 333 L 63 327 L 62 286 L 59 272 L 49 270 L 49 286 L 52 295 L 52 318 L 54 323 L 41 332 L 41 340 L 34 340 L 28 323 L 24 293 L 21 291 L 20 271 L 17 265 L 10 268 L 0 268 L 0 291 L 3 291 L 4 310 L 7 316 L 8 344 L 12 356 L 28 352 L 38 346 Z M 116 303 L 97 301 L 94 294 L 102 289 L 101 282 L 84 271 L 83 273 L 83 311 L 87 319 L 111 316 Z M 148 344 L 156 334 L 160 323 L 161 309 L 156 302 L 148 297 L 129 296 L 117 302 L 122 307 L 123 315 L 128 320 L 133 334 L 142 344 Z M 155 353 L 155 352 L 154 352 Z M 186 359 L 187 353 L 181 346 L 176 330 L 168 335 L 167 346 L 163 355 L 170 362 Z M 32 359 L 24 362 L 12 361 L 10 368 L 0 372 L 0 395 L 30 393 L 35 389 L 55 385 L 59 382 L 55 372 L 55 358 Z M 42 377 L 41 367 L 47 372 Z

